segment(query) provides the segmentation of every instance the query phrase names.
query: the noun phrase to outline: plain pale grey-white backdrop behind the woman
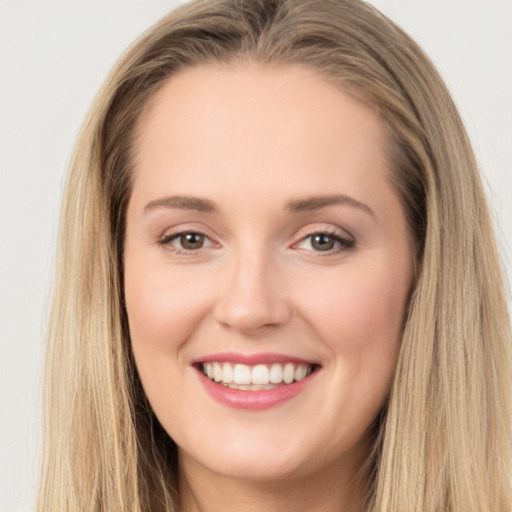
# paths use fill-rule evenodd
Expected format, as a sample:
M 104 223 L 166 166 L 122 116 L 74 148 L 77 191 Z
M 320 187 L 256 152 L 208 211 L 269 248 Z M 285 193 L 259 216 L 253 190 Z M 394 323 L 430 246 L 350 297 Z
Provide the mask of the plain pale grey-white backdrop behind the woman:
M 43 337 L 73 142 L 117 57 L 180 3 L 0 0 L 1 511 L 34 508 Z M 372 3 L 423 46 L 452 91 L 512 276 L 512 0 Z

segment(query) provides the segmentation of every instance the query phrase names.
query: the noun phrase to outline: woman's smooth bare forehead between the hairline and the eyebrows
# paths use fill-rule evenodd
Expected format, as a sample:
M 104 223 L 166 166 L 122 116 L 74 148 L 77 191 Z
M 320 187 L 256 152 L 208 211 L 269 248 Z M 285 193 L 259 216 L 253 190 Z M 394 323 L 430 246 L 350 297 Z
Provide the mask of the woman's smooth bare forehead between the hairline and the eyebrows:
M 210 64 L 156 93 L 139 120 L 134 178 L 148 189 L 172 181 L 207 193 L 249 176 L 251 186 L 280 184 L 300 196 L 295 189 L 328 192 L 338 171 L 351 170 L 344 187 L 354 190 L 344 192 L 357 195 L 356 182 L 388 173 L 385 146 L 374 110 L 314 70 Z

